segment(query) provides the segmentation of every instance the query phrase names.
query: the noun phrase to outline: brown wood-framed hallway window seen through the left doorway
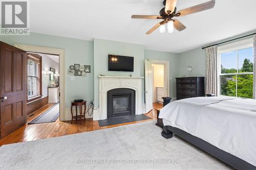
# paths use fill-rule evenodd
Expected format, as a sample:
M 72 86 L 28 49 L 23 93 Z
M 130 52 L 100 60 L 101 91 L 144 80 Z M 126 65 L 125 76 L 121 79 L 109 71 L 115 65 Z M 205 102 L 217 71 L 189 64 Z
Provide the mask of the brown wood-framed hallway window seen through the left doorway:
M 28 55 L 28 102 L 41 98 L 41 56 Z

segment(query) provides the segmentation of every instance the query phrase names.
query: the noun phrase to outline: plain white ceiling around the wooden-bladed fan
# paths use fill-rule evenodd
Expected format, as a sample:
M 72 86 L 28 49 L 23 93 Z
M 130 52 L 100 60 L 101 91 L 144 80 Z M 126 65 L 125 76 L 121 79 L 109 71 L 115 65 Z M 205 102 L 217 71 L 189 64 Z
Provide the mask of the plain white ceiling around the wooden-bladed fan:
M 181 10 L 208 0 L 178 0 Z M 145 35 L 157 19 L 131 19 L 132 14 L 159 14 L 163 0 L 33 0 L 31 32 L 85 40 L 143 44 L 146 49 L 180 53 L 256 29 L 255 0 L 216 0 L 214 9 L 179 17 L 186 30 Z

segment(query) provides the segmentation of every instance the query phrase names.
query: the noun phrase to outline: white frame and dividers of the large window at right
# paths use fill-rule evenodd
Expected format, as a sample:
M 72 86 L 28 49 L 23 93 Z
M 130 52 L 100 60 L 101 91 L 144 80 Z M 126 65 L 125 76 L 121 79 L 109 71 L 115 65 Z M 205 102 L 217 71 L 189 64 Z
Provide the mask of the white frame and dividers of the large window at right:
M 221 54 L 222 53 L 226 53 L 226 52 L 231 52 L 231 51 L 239 51 L 239 50 L 244 50 L 246 48 L 251 48 L 253 47 L 253 38 L 248 38 L 248 39 L 245 39 L 245 40 L 241 40 L 241 41 L 237 41 L 237 42 L 233 42 L 233 43 L 229 43 L 229 44 L 225 44 L 225 45 L 221 45 L 221 46 L 218 46 L 217 47 L 217 51 L 218 51 L 218 70 L 217 70 L 217 92 L 218 92 L 218 95 L 219 96 L 226 96 L 226 95 L 221 95 L 221 80 L 220 80 L 220 77 L 221 76 L 230 76 L 230 75 L 253 75 L 253 72 L 238 72 L 237 70 L 237 73 L 230 73 L 230 74 L 221 74 Z M 237 54 L 238 56 L 238 54 Z M 238 60 L 238 58 L 237 58 Z M 237 68 L 238 68 L 238 61 L 237 61 Z M 236 77 L 237 79 L 237 77 Z M 236 80 L 237 82 L 237 80 Z M 236 83 L 236 91 L 237 91 L 237 83 Z M 233 97 L 233 96 L 228 96 L 228 97 L 232 97 L 232 98 L 239 98 L 237 96 L 237 93 L 236 93 L 236 97 Z

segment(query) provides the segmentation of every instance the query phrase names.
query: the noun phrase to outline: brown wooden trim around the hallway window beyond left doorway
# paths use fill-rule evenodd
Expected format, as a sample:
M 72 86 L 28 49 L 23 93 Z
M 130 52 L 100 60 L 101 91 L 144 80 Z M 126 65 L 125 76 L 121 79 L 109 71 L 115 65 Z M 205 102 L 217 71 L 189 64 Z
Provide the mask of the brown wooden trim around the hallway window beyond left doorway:
M 27 94 L 27 103 L 33 102 L 42 98 L 42 57 L 38 54 L 27 53 L 27 62 L 28 60 L 32 60 L 38 63 L 38 95 L 33 96 L 32 98 L 28 98 Z M 28 76 L 27 76 L 28 77 Z

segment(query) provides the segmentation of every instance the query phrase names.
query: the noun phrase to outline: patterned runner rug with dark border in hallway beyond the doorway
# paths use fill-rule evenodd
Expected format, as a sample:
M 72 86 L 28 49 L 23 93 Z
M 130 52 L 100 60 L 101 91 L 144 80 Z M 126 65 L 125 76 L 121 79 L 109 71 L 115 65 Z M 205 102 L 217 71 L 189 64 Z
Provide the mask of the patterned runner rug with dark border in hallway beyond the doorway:
M 55 122 L 58 117 L 59 117 L 59 103 L 55 103 L 53 106 L 47 109 L 44 113 L 34 118 L 28 124 L 42 124 L 42 123 Z

